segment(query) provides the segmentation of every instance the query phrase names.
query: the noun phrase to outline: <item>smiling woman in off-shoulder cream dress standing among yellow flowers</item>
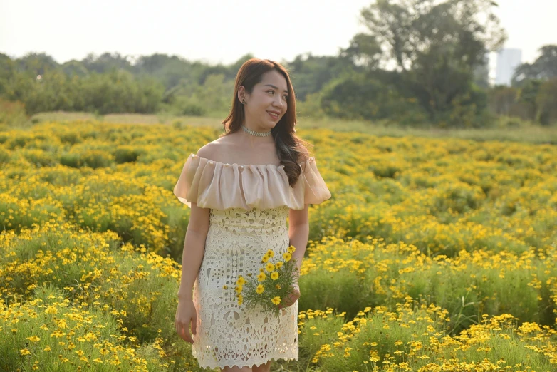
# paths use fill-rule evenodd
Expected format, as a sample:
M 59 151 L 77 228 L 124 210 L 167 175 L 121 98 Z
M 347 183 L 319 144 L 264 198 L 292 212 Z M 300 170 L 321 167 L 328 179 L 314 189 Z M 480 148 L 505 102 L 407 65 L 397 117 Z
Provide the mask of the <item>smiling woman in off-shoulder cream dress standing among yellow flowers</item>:
M 297 281 L 276 318 L 248 314 L 236 301 L 236 279 L 258 273 L 269 249 L 280 257 L 290 245 L 299 272 L 308 205 L 330 192 L 295 135 L 294 91 L 279 63 L 251 58 L 241 66 L 222 124 L 225 134 L 189 155 L 174 188 L 191 208 L 175 326 L 199 366 L 269 371 L 271 359 L 298 360 Z

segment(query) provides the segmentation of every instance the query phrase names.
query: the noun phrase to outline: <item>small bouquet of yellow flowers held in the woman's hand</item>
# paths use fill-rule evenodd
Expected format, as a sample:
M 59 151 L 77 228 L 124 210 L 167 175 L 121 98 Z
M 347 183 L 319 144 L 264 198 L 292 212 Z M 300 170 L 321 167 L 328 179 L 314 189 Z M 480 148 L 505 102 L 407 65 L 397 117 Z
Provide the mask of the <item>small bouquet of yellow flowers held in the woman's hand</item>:
M 281 260 L 274 258 L 274 252 L 269 249 L 261 258 L 264 267 L 259 269 L 259 275 L 255 278 L 253 273 L 247 274 L 245 279 L 241 275 L 236 281 L 236 297 L 238 304 L 246 303 L 248 309 L 261 306 L 264 311 L 279 316 L 279 306 L 283 297 L 288 296 L 297 283 L 294 272 L 298 271 L 296 259 L 292 259 L 296 247 L 289 246 L 287 252 L 282 254 Z

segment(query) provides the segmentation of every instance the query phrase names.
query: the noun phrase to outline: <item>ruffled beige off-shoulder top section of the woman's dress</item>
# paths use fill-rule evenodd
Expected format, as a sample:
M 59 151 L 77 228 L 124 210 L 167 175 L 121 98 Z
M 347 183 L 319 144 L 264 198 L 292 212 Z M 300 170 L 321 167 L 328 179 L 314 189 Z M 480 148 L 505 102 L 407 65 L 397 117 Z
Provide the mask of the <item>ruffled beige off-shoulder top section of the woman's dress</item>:
M 288 205 L 303 210 L 330 198 L 315 157 L 298 164 L 301 174 L 293 187 L 282 165 L 224 164 L 190 154 L 174 187 L 174 195 L 188 207 L 226 210 L 268 209 Z

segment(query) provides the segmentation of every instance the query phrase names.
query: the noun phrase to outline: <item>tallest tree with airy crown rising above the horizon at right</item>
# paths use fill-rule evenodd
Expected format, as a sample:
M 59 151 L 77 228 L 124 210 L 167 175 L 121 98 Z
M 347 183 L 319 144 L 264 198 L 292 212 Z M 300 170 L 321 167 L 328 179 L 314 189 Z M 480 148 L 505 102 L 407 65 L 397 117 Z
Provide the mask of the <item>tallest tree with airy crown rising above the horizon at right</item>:
M 361 13 L 370 33 L 356 35 L 343 53 L 363 61 L 370 78 L 415 98 L 430 120 L 460 125 L 486 107 L 474 80 L 486 53 L 506 39 L 495 6 L 491 0 L 377 0 Z M 455 108 L 462 120 L 449 114 Z

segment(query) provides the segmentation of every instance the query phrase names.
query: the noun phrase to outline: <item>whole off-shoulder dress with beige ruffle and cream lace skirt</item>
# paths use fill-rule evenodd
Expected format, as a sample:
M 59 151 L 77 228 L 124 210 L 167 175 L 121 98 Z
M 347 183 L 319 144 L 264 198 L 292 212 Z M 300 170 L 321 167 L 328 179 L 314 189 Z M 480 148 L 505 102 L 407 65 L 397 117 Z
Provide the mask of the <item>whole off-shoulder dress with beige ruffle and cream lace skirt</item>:
M 298 301 L 277 318 L 238 305 L 236 279 L 259 274 L 261 257 L 289 246 L 288 210 L 330 198 L 314 157 L 300 164 L 294 187 L 283 167 L 237 165 L 190 154 L 175 185 L 184 204 L 210 208 L 202 265 L 194 283 L 197 334 L 192 355 L 199 366 L 260 366 L 271 359 L 298 360 Z M 227 286 L 227 289 L 224 289 Z

